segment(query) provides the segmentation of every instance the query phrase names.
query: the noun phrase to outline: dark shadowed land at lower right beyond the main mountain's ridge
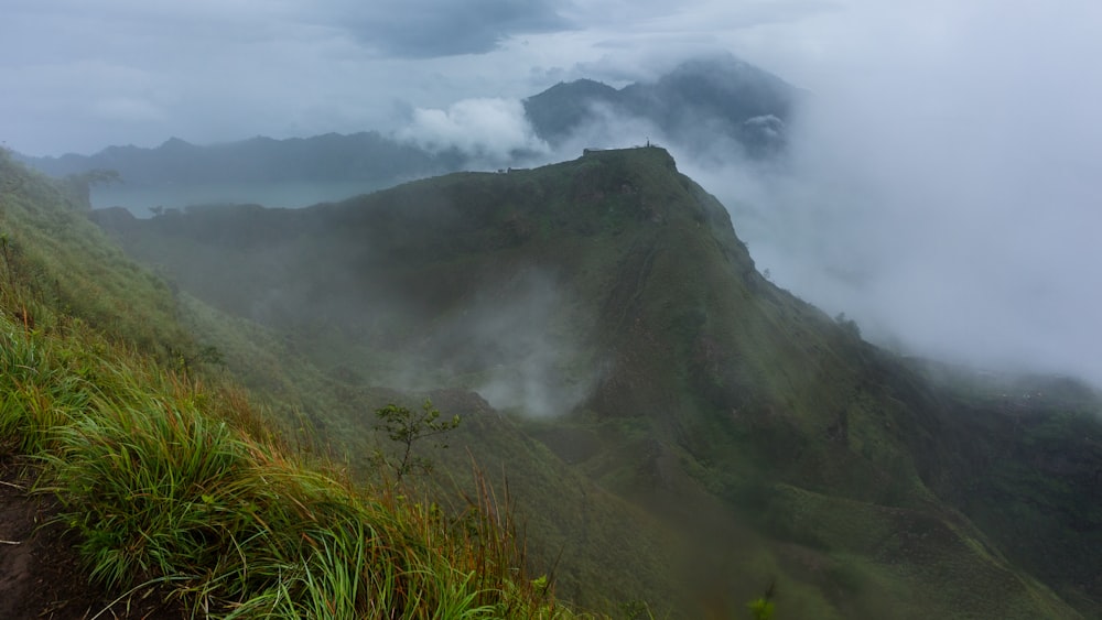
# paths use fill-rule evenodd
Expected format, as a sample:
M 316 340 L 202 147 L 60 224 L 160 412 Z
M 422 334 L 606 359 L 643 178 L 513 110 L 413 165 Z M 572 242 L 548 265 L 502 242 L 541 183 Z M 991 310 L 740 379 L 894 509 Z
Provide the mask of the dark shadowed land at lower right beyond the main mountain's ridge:
M 951 433 L 934 486 L 1002 550 L 1085 616 L 1102 613 L 1099 395 L 1067 378 L 927 367 Z

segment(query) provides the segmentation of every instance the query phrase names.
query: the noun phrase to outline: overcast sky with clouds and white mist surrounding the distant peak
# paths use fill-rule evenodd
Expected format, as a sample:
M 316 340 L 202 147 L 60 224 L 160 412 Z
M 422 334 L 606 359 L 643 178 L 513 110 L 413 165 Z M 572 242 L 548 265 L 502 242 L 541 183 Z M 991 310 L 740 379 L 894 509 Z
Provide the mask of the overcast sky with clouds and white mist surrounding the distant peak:
M 522 97 L 731 52 L 814 93 L 791 174 L 679 154 L 775 281 L 909 350 L 1102 384 L 1099 0 L 0 4 L 0 141 L 36 155 L 365 129 L 538 146 Z

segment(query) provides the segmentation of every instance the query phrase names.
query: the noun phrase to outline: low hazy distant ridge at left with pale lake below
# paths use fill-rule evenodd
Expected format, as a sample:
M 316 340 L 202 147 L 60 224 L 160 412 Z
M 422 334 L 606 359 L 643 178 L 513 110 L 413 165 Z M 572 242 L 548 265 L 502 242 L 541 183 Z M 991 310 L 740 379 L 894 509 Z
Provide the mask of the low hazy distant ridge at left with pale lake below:
M 93 155 L 20 159 L 54 176 L 109 171 L 121 183 L 93 184 L 93 203 L 143 215 L 227 202 L 299 207 L 455 171 L 466 160 L 454 150 L 430 153 L 374 131 L 212 145 L 172 138 L 154 149 L 109 146 Z

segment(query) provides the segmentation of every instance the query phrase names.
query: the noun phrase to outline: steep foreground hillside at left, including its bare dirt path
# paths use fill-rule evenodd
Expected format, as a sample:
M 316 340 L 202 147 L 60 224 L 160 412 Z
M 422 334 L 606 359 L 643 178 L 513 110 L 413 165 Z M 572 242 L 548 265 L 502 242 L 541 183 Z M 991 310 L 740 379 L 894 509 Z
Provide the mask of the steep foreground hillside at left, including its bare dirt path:
M 129 260 L 71 189 L 0 150 L 0 616 L 580 616 L 554 596 L 553 565 L 530 562 L 493 474 L 472 471 L 450 504 L 377 469 L 353 480 L 289 411 L 293 394 L 242 389 L 185 320 L 220 330 L 227 357 L 256 345 L 249 369 L 276 385 L 316 370 L 266 368 L 278 349 L 261 329 Z M 523 450 L 477 402 L 437 396 Z M 402 411 L 390 420 L 420 424 Z M 574 482 L 575 507 L 648 530 L 584 479 L 531 463 Z

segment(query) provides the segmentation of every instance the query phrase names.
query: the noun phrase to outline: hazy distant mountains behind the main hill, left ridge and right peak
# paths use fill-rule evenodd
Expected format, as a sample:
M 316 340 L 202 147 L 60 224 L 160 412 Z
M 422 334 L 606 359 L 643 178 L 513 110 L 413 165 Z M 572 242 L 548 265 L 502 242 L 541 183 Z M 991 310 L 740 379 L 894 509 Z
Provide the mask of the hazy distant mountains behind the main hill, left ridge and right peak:
M 689 61 L 652 83 L 618 90 L 590 79 L 558 84 L 523 105 L 534 132 L 553 148 L 570 139 L 603 146 L 613 119 L 631 119 L 653 127 L 656 138 L 671 145 L 768 157 L 784 149 L 785 123 L 801 97 L 779 77 L 728 55 Z M 210 145 L 172 138 L 153 149 L 109 146 L 93 155 L 19 159 L 54 176 L 114 170 L 126 183 L 123 192 L 302 182 L 355 183 L 349 193 L 359 193 L 472 164 L 457 149 L 430 151 L 377 131 L 288 140 L 258 137 Z M 171 198 L 148 199 L 183 206 L 172 205 Z M 194 195 L 180 199 L 197 200 Z M 226 202 L 266 200 L 263 194 L 246 193 L 227 195 Z M 109 204 L 115 203 L 97 200 L 96 206 Z

